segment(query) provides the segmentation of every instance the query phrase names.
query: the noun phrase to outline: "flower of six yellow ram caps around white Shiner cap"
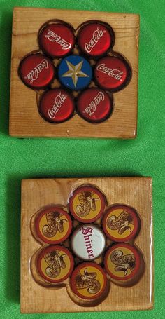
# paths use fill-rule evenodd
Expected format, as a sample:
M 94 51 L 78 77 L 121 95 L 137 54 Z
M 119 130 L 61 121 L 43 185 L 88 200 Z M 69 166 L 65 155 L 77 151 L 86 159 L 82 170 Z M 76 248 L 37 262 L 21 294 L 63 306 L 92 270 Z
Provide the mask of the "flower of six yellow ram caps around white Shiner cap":
M 129 287 L 144 271 L 143 254 L 134 245 L 141 230 L 136 210 L 125 204 L 107 207 L 96 186 L 82 184 L 69 196 L 67 207 L 49 205 L 31 219 L 31 232 L 42 245 L 35 254 L 37 283 L 66 285 L 77 304 L 99 304 L 110 281 Z

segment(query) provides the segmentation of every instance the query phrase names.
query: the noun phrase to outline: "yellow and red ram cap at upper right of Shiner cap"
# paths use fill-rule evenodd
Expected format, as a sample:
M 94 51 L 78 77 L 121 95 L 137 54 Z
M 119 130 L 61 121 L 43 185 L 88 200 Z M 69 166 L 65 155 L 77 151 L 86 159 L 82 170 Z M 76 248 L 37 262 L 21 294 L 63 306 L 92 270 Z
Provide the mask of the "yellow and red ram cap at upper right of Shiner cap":
M 117 243 L 131 240 L 140 228 L 140 219 L 134 208 L 127 205 L 113 205 L 103 217 L 103 231 Z

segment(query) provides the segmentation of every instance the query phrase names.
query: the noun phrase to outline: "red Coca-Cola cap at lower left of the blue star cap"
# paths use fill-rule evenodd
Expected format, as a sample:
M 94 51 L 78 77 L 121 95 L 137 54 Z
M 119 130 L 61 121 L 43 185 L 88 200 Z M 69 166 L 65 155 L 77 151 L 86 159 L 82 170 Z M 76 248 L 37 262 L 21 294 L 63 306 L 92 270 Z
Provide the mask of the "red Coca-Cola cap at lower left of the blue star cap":
M 73 116 L 73 98 L 62 88 L 48 90 L 41 96 L 38 111 L 48 122 L 62 123 Z

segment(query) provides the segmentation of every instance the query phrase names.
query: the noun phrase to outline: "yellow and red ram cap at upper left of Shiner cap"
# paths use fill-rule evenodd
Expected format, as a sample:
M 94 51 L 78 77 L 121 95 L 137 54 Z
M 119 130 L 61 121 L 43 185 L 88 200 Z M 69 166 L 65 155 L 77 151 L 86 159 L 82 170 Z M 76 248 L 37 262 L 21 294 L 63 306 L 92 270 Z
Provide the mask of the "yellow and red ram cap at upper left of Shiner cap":
M 35 219 L 35 228 L 38 238 L 44 243 L 62 243 L 71 233 L 71 217 L 57 206 L 43 208 Z

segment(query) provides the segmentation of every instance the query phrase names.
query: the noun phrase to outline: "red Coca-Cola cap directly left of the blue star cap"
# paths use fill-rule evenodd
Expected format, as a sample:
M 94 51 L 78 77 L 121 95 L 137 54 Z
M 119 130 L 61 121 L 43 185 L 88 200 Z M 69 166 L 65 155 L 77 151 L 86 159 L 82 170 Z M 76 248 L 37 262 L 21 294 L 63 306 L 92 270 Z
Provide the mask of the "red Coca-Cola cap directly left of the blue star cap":
M 45 55 L 33 53 L 20 62 L 18 73 L 26 86 L 41 89 L 48 86 L 54 79 L 55 66 Z

